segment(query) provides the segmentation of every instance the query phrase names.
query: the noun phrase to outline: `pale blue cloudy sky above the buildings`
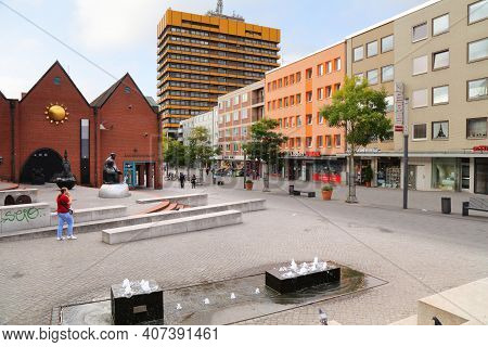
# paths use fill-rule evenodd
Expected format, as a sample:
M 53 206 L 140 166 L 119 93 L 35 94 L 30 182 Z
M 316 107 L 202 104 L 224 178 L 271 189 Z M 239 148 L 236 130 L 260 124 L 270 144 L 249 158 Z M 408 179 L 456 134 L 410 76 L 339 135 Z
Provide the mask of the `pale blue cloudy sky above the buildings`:
M 223 11 L 280 28 L 282 63 L 287 64 L 424 2 L 224 0 Z M 0 91 L 21 98 L 57 60 L 89 101 L 127 72 L 144 94 L 155 98 L 156 26 L 166 9 L 204 14 L 216 4 L 217 0 L 0 0 Z

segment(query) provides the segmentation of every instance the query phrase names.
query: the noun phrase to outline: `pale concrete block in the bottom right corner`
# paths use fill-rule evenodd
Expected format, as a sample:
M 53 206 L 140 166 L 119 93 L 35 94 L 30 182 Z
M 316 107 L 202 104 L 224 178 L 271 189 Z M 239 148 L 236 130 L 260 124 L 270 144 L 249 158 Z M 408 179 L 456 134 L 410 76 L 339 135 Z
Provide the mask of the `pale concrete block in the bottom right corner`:
M 418 324 L 434 325 L 436 317 L 442 325 L 488 324 L 488 279 L 472 282 L 418 301 Z

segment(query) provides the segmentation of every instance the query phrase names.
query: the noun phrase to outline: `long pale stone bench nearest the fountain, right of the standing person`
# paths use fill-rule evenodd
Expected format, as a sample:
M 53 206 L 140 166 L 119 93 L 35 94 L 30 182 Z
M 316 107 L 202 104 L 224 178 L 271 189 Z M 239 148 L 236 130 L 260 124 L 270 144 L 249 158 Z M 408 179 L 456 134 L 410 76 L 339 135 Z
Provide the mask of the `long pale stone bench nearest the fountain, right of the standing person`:
M 154 223 L 107 229 L 102 231 L 102 240 L 104 243 L 115 245 L 239 223 L 242 223 L 242 213 L 228 210 Z

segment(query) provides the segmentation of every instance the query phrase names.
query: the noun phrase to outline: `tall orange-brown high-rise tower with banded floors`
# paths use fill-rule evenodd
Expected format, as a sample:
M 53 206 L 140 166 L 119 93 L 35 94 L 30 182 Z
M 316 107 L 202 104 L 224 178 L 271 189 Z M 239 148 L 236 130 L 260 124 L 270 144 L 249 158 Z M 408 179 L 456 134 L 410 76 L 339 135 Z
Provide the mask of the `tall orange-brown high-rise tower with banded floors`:
M 158 104 L 175 137 L 183 119 L 207 112 L 218 97 L 265 78 L 279 66 L 279 29 L 222 14 L 167 10 L 158 27 Z

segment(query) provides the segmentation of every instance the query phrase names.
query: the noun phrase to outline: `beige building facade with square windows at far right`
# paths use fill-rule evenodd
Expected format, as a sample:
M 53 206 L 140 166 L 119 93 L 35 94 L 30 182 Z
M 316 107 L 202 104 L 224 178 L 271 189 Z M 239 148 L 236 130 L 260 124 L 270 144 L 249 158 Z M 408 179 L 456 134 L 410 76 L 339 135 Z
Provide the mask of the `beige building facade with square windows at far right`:
M 349 76 L 385 88 L 389 101 L 401 86 L 409 100 L 412 189 L 488 194 L 487 27 L 487 0 L 434 0 L 346 39 Z M 371 165 L 374 184 L 399 188 L 402 152 L 395 132 L 363 149 L 357 170 Z

